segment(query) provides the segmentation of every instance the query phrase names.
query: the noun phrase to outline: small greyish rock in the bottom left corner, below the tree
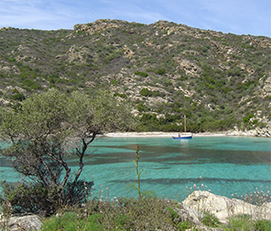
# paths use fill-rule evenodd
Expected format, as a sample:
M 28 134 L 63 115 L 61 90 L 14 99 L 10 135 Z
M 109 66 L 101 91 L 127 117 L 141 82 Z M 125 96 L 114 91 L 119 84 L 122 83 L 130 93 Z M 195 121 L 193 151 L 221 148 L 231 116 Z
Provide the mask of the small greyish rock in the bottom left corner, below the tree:
M 1 216 L 2 217 L 2 216 Z M 5 224 L 7 224 L 5 226 Z M 42 230 L 42 219 L 37 215 L 27 215 L 23 217 L 10 217 L 8 222 L 5 218 L 0 221 L 1 230 L 22 231 L 22 230 Z M 4 229 L 5 228 L 5 229 Z

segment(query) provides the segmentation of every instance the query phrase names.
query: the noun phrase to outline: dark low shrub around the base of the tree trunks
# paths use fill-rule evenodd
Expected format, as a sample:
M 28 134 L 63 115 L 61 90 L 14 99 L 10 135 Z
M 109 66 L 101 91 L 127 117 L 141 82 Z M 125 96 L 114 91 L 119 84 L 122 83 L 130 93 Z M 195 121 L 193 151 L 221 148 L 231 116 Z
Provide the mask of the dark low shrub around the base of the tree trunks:
M 14 183 L 2 182 L 3 197 L 9 201 L 13 213 L 41 213 L 52 214 L 62 205 L 81 205 L 87 201 L 93 182 L 79 180 L 74 189 L 68 183 L 61 197 L 54 188 L 45 188 L 39 182 Z

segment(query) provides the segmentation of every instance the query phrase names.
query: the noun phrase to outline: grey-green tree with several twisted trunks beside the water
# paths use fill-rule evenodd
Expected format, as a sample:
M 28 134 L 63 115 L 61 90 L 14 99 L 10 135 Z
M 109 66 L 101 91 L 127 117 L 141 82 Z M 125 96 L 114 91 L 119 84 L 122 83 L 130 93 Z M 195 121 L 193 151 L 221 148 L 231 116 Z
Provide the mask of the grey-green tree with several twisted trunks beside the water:
M 2 140 L 12 144 L 2 153 L 12 158 L 16 171 L 33 180 L 36 188 L 44 189 L 46 207 L 42 199 L 33 200 L 32 206 L 51 212 L 84 199 L 82 189 L 86 188 L 88 194 L 91 182 L 83 182 L 79 176 L 89 144 L 102 132 L 129 129 L 133 125 L 131 118 L 127 106 L 107 92 L 90 98 L 76 91 L 68 97 L 51 89 L 25 99 L 16 111 L 1 108 L 0 134 Z M 76 155 L 79 162 L 74 175 L 67 162 L 70 155 Z M 6 194 L 14 190 L 5 186 Z M 27 211 L 22 205 L 17 208 Z

